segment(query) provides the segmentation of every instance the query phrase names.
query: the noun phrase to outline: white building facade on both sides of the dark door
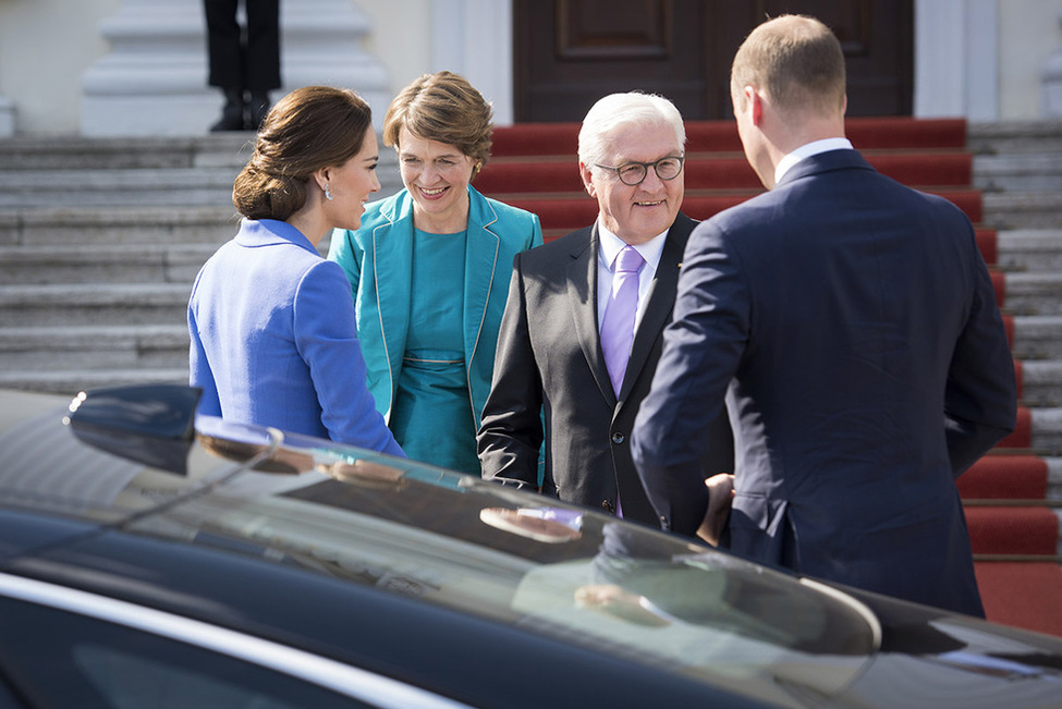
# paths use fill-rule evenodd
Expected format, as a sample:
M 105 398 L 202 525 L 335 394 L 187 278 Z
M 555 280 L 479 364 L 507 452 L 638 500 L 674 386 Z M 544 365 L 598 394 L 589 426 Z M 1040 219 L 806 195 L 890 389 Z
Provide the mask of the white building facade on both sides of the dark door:
M 915 0 L 916 117 L 1062 119 L 1062 0 Z M 479 88 L 513 121 L 509 0 L 281 0 L 286 90 L 350 86 L 382 119 L 424 72 Z M 195 135 L 206 85 L 200 0 L 0 0 L 0 136 Z

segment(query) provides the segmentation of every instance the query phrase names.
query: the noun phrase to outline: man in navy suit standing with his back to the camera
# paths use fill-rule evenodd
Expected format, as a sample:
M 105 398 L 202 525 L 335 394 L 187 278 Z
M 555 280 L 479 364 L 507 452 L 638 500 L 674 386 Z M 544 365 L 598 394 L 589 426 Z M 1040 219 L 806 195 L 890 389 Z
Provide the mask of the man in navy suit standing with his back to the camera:
M 973 227 L 844 139 L 844 58 L 820 22 L 760 25 L 731 93 L 769 192 L 689 237 L 634 430 L 652 505 L 675 531 L 703 523 L 694 463 L 725 398 L 732 550 L 982 615 L 954 478 L 1013 430 L 1016 388 Z

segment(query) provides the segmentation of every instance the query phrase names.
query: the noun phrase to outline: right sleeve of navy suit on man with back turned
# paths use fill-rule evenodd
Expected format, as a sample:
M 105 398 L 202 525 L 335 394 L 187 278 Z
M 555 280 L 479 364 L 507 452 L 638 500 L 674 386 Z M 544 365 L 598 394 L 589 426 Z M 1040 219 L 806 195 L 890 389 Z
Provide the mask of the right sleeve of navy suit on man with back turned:
M 969 228 L 974 300 L 955 343 L 944 390 L 944 431 L 952 473 L 962 475 L 1014 430 L 1017 383 L 1014 359 L 988 268 Z

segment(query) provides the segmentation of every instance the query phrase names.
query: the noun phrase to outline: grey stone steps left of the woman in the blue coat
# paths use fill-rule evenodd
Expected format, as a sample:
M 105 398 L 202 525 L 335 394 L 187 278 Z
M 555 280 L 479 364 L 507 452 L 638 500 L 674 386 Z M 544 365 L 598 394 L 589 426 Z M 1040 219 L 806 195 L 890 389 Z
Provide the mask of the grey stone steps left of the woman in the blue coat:
M 187 382 L 192 282 L 236 232 L 252 137 L 0 140 L 0 388 Z

